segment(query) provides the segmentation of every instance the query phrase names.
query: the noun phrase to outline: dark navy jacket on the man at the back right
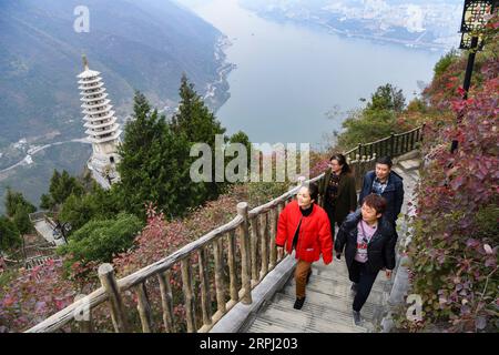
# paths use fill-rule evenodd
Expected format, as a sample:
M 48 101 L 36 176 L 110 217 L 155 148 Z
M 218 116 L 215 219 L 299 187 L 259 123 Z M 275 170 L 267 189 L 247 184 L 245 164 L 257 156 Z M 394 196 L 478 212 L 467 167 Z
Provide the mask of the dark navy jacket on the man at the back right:
M 369 171 L 366 176 L 364 176 L 363 190 L 358 196 L 359 206 L 361 206 L 364 197 L 371 193 L 373 182 L 375 179 L 376 173 L 374 171 Z M 386 200 L 386 211 L 383 215 L 395 224 L 404 203 L 404 183 L 403 178 L 399 174 L 394 171 L 390 172 L 388 176 L 388 184 L 386 185 L 381 196 Z

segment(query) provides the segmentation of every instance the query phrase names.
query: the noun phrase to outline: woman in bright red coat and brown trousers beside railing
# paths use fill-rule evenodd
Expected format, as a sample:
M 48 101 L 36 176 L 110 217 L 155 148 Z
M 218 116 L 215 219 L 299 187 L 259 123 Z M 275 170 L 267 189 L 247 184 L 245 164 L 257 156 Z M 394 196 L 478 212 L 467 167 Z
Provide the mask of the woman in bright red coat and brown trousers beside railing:
M 299 189 L 296 201 L 286 205 L 279 215 L 276 245 L 279 257 L 284 247 L 288 254 L 296 251 L 298 264 L 295 270 L 296 302 L 294 307 L 301 310 L 305 302 L 305 286 L 312 274 L 312 263 L 323 255 L 327 265 L 333 261 L 333 241 L 329 219 L 315 202 L 318 187 L 310 183 Z

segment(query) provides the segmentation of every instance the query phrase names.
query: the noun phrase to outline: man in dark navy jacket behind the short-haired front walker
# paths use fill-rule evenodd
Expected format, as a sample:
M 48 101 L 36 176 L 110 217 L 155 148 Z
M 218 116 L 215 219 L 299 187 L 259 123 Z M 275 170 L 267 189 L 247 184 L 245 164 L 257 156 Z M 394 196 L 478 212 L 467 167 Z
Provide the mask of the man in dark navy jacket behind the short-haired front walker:
M 358 203 L 360 205 L 364 199 L 371 193 L 383 196 L 387 203 L 384 217 L 390 221 L 395 227 L 404 203 L 404 183 L 403 178 L 391 171 L 391 165 L 393 162 L 389 156 L 376 161 L 376 170 L 369 171 L 364 176 Z

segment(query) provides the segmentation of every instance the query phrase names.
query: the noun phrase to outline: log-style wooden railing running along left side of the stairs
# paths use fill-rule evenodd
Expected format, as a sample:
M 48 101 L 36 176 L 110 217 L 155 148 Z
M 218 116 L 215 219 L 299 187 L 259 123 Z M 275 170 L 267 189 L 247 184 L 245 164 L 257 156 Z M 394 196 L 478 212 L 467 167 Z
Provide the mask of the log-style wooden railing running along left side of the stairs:
M 353 158 L 349 163 L 357 181 L 361 182 L 365 172 L 374 168 L 377 154 L 403 154 L 414 149 L 420 139 L 421 128 L 418 128 L 374 143 L 360 144 L 347 152 Z M 319 183 L 324 176 L 323 173 L 307 182 Z M 281 262 L 275 245 L 277 219 L 304 183 L 305 178 L 301 178 L 298 186 L 251 211 L 246 202 L 240 203 L 237 216 L 227 224 L 121 280 L 115 278 L 111 264 L 102 264 L 99 267 L 100 288 L 27 332 L 57 332 L 71 322 L 75 322 L 81 332 L 91 332 L 92 311 L 106 302 L 114 331 L 131 332 L 131 312 L 123 301 L 123 295 L 130 292 L 135 295 L 142 331 L 156 332 L 160 326 L 154 316 L 159 316 L 152 312 L 151 287 L 160 291 L 163 331 L 208 332 L 238 302 L 251 304 L 252 290 Z M 197 258 L 197 270 L 192 267 L 195 264 L 193 257 Z M 175 268 L 181 272 L 182 305 L 185 311 L 185 316 L 176 321 L 171 286 Z M 214 295 L 211 290 L 213 285 Z M 82 310 L 85 310 L 86 317 L 81 316 Z

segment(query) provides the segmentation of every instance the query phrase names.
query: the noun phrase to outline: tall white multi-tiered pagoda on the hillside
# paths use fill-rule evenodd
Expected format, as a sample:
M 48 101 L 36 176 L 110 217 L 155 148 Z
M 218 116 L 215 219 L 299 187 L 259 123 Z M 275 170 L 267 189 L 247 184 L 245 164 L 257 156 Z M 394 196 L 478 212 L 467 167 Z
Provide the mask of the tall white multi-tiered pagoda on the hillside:
M 84 71 L 78 75 L 81 101 L 83 104 L 84 128 L 86 140 L 92 143 L 92 156 L 88 166 L 93 179 L 104 189 L 120 180 L 116 163 L 120 161 L 118 145 L 121 129 L 116 122 L 115 111 L 112 110 L 111 100 L 108 99 L 104 82 L 100 72 L 89 69 L 86 57 L 83 55 Z

